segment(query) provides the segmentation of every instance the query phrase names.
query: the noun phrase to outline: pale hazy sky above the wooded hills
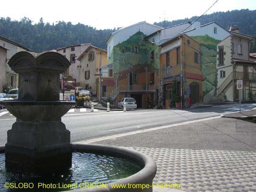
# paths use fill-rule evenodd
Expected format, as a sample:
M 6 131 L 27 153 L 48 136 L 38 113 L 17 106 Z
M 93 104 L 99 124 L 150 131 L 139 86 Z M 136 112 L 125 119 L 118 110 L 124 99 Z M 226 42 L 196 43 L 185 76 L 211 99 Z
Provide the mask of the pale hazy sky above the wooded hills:
M 0 17 L 27 17 L 34 23 L 82 23 L 96 29 L 113 29 L 141 21 L 153 24 L 202 15 L 216 0 L 4 0 Z M 256 9 L 256 0 L 218 0 L 206 14 L 235 9 Z

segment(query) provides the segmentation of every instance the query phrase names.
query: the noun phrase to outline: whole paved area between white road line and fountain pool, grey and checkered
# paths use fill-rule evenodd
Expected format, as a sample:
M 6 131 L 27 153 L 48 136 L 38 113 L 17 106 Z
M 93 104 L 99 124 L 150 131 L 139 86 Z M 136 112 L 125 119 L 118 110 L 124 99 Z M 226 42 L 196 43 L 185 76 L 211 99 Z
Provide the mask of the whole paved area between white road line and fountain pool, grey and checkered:
M 154 192 L 255 192 L 256 124 L 217 118 L 97 142 L 135 149 L 157 164 Z

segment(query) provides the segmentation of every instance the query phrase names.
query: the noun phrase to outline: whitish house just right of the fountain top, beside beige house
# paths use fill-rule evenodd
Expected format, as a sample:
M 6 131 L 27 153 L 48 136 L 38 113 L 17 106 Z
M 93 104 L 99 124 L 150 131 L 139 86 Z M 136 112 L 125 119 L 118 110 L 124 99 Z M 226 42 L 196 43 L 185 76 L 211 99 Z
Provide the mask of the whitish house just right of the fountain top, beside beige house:
M 87 44 L 79 44 L 72 45 L 68 47 L 63 47 L 56 49 L 56 51 L 63 56 L 65 56 L 68 60 L 70 60 L 71 65 L 68 70 L 64 73 L 64 77 L 72 76 L 72 78 L 76 79 L 76 85 L 80 86 L 79 77 L 81 75 L 81 63 L 77 58 L 90 46 L 90 43 Z M 62 75 L 60 75 L 60 79 L 62 79 Z

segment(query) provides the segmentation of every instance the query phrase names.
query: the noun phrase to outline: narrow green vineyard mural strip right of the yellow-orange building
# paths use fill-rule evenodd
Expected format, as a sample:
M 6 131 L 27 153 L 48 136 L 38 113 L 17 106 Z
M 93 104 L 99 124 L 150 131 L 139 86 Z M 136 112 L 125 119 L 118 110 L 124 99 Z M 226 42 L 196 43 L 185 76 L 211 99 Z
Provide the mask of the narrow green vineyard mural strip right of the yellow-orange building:
M 201 44 L 201 68 L 204 77 L 203 81 L 203 96 L 213 97 L 216 94 L 217 89 L 217 44 L 220 42 L 215 38 L 211 38 L 208 35 L 193 36 L 197 42 Z

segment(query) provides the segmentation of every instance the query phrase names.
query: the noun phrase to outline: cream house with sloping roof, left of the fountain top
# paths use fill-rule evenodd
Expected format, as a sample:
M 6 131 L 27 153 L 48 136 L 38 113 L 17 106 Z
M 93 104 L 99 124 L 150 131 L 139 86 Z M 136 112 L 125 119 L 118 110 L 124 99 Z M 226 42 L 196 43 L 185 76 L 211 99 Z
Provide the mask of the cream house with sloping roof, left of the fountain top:
M 7 50 L 7 62 L 8 60 L 11 59 L 11 57 L 19 52 L 19 51 L 30 51 L 32 52 L 31 49 L 28 49 L 24 47 L 23 45 L 20 45 L 19 43 L 16 43 L 15 41 L 11 41 L 8 38 L 4 38 L 0 36 L 0 46 L 3 46 L 4 48 L 8 49 Z M 15 73 L 14 71 L 11 70 L 8 64 L 6 64 L 6 84 L 8 86 L 11 86 L 12 88 L 18 87 L 19 83 L 19 75 Z

